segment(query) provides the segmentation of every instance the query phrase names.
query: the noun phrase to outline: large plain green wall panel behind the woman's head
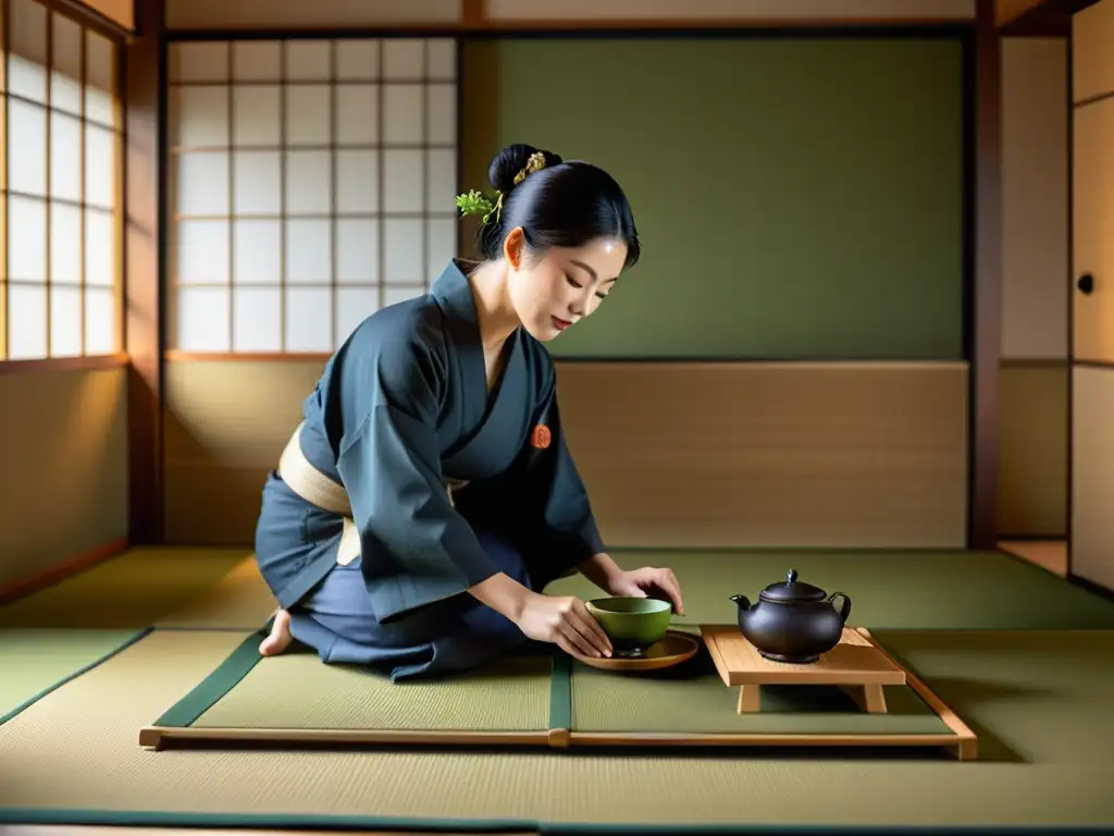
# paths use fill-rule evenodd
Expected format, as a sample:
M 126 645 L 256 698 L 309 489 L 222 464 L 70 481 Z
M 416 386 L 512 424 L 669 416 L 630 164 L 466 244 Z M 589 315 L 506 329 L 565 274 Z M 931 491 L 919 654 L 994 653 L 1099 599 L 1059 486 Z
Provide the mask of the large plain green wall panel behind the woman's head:
M 465 188 L 526 142 L 634 205 L 643 261 L 556 356 L 961 359 L 958 40 L 478 40 L 463 85 Z

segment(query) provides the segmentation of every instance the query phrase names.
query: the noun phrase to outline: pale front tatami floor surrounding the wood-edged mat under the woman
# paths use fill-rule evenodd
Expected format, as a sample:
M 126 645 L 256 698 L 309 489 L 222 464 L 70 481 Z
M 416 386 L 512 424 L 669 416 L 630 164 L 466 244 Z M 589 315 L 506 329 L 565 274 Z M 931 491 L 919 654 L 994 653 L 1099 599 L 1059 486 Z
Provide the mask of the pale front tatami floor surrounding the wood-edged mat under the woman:
M 0 726 L 0 820 L 109 824 L 128 811 L 130 824 L 590 823 L 643 833 L 690 823 L 1114 822 L 1105 775 L 1114 766 L 1114 631 L 873 634 L 976 727 L 980 760 L 156 752 L 138 746 L 138 729 L 244 638 L 156 631 Z

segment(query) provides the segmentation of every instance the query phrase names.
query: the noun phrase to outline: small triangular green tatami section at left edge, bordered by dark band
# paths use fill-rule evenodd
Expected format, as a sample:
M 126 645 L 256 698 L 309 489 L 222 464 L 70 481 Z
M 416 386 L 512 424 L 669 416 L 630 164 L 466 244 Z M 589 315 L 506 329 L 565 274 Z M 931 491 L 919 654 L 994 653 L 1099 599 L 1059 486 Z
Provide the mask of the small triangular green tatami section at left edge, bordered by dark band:
M 0 725 L 136 641 L 136 630 L 0 630 Z

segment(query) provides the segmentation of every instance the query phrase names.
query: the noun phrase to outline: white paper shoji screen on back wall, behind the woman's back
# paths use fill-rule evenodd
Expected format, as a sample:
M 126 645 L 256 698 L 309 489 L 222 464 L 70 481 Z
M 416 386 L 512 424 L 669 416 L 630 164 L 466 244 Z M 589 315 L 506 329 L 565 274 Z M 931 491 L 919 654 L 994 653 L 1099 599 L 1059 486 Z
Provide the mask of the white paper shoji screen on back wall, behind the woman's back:
M 169 51 L 169 344 L 329 352 L 457 254 L 452 39 Z

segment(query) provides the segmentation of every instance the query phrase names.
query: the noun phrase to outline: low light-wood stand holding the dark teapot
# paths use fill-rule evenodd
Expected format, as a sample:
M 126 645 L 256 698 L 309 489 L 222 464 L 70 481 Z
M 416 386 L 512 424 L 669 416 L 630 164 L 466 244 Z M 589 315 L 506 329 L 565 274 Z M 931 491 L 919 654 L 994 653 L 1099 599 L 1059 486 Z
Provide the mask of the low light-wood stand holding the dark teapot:
M 906 684 L 906 672 L 867 634 L 843 628 L 840 643 L 811 664 L 771 662 L 737 628 L 702 628 L 715 667 L 727 687 L 739 687 L 739 713 L 761 711 L 762 686 L 838 686 L 871 713 L 886 713 L 883 686 Z

